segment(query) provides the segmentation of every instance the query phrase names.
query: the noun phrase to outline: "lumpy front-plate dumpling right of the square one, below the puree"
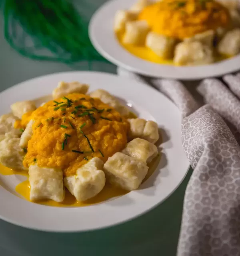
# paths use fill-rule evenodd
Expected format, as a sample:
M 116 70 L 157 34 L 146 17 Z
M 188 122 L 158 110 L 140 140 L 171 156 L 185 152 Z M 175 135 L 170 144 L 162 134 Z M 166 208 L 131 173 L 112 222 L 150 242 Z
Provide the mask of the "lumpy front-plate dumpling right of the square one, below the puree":
M 103 161 L 94 157 L 76 171 L 76 175 L 65 177 L 64 185 L 78 201 L 85 201 L 102 191 L 106 179 L 102 171 Z

